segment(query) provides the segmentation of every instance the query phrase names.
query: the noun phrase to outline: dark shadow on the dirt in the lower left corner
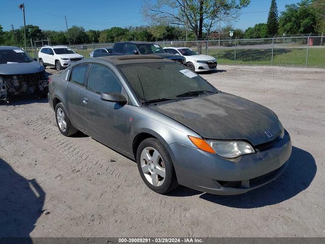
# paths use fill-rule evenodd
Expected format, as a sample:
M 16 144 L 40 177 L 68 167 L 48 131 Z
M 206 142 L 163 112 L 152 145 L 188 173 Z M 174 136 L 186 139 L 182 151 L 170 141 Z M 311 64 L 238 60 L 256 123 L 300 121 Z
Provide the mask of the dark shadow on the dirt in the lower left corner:
M 35 179 L 24 178 L 0 158 L 0 237 L 29 237 L 43 213 L 44 199 Z

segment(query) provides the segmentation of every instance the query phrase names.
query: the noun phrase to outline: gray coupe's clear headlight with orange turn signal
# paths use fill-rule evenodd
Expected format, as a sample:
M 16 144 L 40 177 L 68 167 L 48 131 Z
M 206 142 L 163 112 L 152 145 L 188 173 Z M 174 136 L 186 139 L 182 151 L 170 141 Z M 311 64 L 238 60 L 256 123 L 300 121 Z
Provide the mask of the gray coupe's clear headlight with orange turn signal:
M 188 138 L 201 150 L 217 154 L 223 158 L 232 159 L 255 153 L 254 148 L 245 141 L 204 140 L 193 136 L 188 136 Z

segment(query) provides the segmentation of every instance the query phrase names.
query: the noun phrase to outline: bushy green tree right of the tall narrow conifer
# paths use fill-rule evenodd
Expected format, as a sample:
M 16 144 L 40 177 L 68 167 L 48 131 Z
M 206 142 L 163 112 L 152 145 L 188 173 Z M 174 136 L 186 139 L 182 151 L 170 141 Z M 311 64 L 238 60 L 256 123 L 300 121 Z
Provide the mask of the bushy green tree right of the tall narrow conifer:
M 279 18 L 279 34 L 309 34 L 316 33 L 317 10 L 313 8 L 311 0 L 302 0 L 298 4 L 285 6 L 285 11 Z

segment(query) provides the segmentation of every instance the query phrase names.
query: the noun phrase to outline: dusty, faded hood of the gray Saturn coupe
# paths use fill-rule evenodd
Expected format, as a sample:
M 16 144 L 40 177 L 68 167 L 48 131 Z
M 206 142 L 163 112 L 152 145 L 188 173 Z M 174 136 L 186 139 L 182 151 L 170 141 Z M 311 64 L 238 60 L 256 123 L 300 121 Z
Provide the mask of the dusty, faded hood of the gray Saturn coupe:
M 218 93 L 150 106 L 206 139 L 242 139 L 253 145 L 276 138 L 281 129 L 277 115 L 249 100 Z M 273 134 L 272 138 L 266 131 Z

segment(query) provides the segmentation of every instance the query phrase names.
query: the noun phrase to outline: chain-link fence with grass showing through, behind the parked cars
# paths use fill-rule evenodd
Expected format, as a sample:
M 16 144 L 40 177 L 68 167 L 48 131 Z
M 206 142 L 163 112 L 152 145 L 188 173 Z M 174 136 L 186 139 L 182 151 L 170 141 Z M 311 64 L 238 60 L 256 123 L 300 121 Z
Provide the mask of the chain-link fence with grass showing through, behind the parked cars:
M 270 65 L 325 68 L 325 36 L 274 37 L 265 39 L 228 39 L 207 41 L 158 41 L 161 47 L 187 47 L 217 58 L 218 64 Z M 89 57 L 94 49 L 113 47 L 114 43 L 71 45 Z M 40 47 L 27 48 L 37 58 Z

